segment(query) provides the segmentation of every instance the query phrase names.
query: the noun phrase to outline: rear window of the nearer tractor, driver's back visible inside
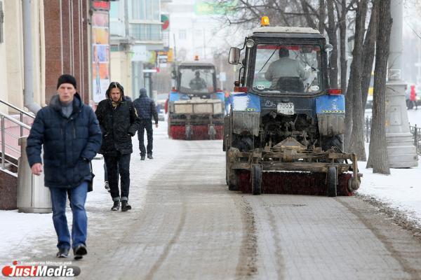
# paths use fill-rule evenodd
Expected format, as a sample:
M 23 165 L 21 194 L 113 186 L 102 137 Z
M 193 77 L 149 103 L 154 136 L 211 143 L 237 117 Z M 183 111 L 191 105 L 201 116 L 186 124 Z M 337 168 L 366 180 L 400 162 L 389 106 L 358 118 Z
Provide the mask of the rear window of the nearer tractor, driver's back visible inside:
M 319 45 L 259 44 L 255 53 L 253 90 L 298 92 L 322 90 Z

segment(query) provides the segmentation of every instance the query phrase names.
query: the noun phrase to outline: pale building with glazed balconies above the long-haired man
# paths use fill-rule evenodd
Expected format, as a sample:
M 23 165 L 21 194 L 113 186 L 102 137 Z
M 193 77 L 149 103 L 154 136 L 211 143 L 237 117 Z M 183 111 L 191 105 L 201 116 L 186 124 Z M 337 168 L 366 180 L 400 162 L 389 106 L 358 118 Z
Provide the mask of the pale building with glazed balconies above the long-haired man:
M 161 25 L 161 0 L 120 0 L 111 5 L 111 57 L 116 66 L 111 76 L 124 80 L 133 98 L 140 87 L 153 97 L 156 51 L 163 50 Z

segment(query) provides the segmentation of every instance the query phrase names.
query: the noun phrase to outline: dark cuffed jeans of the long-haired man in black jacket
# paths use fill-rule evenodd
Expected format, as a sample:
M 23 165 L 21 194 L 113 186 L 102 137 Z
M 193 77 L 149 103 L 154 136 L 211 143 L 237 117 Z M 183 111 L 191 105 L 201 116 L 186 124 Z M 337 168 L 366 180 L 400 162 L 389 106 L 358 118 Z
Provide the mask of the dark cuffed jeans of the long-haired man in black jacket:
M 126 155 L 104 155 L 107 165 L 109 193 L 113 201 L 128 200 L 130 188 L 130 153 Z M 119 174 L 121 182 L 121 196 L 119 191 Z

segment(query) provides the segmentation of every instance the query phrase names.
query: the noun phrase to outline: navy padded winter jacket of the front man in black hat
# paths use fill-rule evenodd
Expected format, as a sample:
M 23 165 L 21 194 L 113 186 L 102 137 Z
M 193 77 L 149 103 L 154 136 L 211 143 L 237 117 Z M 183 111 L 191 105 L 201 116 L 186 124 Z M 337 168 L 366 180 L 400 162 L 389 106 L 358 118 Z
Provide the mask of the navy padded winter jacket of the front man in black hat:
M 37 114 L 27 139 L 29 166 L 41 163 L 44 145 L 44 184 L 50 188 L 74 188 L 90 181 L 89 162 L 100 149 L 102 134 L 91 107 L 74 95 L 73 112 L 62 113 L 58 95 Z

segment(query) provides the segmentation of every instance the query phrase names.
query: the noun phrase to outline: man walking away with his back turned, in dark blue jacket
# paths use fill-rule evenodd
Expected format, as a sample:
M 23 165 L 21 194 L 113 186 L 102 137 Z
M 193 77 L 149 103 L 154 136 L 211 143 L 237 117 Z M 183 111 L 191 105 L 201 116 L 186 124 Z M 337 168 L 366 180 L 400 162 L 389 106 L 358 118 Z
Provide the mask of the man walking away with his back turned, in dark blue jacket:
M 138 139 L 139 139 L 139 150 L 140 150 L 140 160 L 145 160 L 145 154 L 150 160 L 152 157 L 152 148 L 154 142 L 154 130 L 152 130 L 152 117 L 155 121 L 155 127 L 158 127 L 158 113 L 156 112 L 155 102 L 147 97 L 146 89 L 140 89 L 140 96 L 138 99 L 135 99 L 133 105 L 139 114 L 139 130 L 138 130 Z M 143 135 L 147 134 L 147 148 L 145 149 L 145 144 L 143 144 Z

